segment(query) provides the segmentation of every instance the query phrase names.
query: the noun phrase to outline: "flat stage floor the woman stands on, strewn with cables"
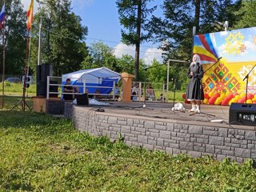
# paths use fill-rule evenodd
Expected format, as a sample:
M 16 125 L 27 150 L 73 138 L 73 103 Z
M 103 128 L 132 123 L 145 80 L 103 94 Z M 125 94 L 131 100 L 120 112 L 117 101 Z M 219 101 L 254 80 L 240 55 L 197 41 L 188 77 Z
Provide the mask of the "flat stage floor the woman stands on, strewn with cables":
M 108 102 L 108 106 L 93 106 L 90 107 L 101 108 L 106 113 L 110 114 L 126 114 L 134 115 L 136 118 L 139 116 L 147 118 L 158 118 L 166 120 L 176 120 L 177 122 L 186 122 L 194 125 L 202 126 L 222 126 L 226 128 L 242 128 L 251 130 L 254 126 L 239 126 L 229 124 L 229 110 L 230 106 L 214 106 L 202 105 L 201 114 L 194 114 L 189 112 L 191 109 L 190 104 L 182 105 L 186 108 L 185 111 L 172 111 L 174 106 L 173 102 Z M 146 107 L 143 105 L 146 104 Z M 160 121 L 162 121 L 160 120 Z

